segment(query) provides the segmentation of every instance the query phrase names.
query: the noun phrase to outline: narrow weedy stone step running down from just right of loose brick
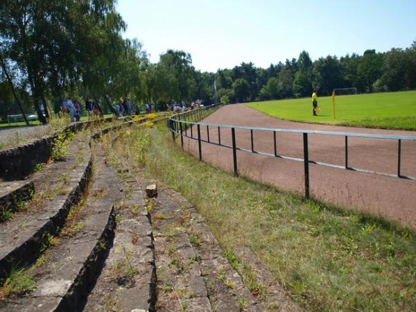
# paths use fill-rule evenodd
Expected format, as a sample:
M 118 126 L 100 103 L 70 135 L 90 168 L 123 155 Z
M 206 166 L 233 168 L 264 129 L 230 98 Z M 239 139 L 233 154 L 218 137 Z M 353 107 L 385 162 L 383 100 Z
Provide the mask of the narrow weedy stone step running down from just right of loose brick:
M 199 259 L 166 190 L 150 200 L 155 236 L 157 311 L 212 311 Z

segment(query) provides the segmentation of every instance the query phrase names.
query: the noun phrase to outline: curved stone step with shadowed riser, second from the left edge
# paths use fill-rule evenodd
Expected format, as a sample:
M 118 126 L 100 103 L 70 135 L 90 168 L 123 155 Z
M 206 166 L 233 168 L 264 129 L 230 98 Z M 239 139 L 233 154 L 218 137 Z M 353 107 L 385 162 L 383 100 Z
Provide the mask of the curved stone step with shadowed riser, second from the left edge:
M 69 151 L 67 162 L 46 165 L 31 176 L 36 196 L 26 209 L 0 223 L 0 278 L 6 277 L 12 267 L 34 261 L 48 234 L 58 232 L 69 209 L 83 196 L 92 168 L 88 140 L 74 140 Z

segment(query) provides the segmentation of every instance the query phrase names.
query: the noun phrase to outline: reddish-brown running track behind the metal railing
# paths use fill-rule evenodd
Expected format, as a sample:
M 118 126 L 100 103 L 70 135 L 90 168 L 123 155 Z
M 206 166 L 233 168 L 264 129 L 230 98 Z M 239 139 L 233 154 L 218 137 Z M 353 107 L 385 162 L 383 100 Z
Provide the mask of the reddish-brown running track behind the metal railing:
M 227 105 L 211 114 L 204 122 L 246 125 L 263 128 L 327 130 L 335 132 L 371 133 L 415 136 L 416 132 L 338 127 L 281 121 L 261 114 L 245 105 Z M 207 138 L 206 129 L 201 135 Z M 218 130 L 210 129 L 210 139 L 218 141 Z M 196 133 L 196 132 L 194 132 Z M 231 131 L 223 129 L 221 143 L 232 145 Z M 251 148 L 250 131 L 236 130 L 239 147 Z M 349 138 L 349 166 L 397 174 L 397 140 Z M 344 137 L 309 135 L 309 157 L 315 161 L 343 166 Z M 185 140 L 185 148 L 198 153 L 196 141 Z M 274 153 L 272 132 L 254 132 L 254 150 Z M 302 134 L 278 133 L 277 153 L 303 158 Z M 416 177 L 416 141 L 403 141 L 401 174 Z M 233 169 L 232 150 L 202 144 L 202 158 L 229 171 Z M 280 189 L 304 192 L 304 164 L 291 160 L 252 153 L 237 153 L 239 173 Z M 398 220 L 416 227 L 416 181 L 368 173 L 345 171 L 310 164 L 311 196 L 342 207 L 359 209 L 377 216 Z

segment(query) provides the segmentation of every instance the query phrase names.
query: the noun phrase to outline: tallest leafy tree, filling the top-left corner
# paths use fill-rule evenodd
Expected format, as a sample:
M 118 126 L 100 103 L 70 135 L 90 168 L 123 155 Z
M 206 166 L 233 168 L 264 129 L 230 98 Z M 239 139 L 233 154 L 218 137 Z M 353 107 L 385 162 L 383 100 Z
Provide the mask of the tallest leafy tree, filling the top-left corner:
M 90 66 L 97 69 L 94 64 L 103 58 L 101 51 L 108 43 L 107 37 L 119 37 L 125 28 L 114 3 L 114 0 L 0 2 L 1 49 L 17 64 L 42 123 L 46 123 L 42 103 L 48 116 L 45 100 L 48 90 L 62 96 L 68 87 L 76 87 L 83 69 Z M 101 69 L 97 69 L 95 79 L 99 81 L 102 76 Z

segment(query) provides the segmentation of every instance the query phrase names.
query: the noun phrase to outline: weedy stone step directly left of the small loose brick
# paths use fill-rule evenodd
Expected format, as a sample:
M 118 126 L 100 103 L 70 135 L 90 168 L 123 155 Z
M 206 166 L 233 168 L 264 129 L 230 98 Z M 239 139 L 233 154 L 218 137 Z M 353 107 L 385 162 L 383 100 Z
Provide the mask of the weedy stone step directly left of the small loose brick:
M 119 220 L 110 253 L 84 311 L 155 311 L 156 280 L 153 232 L 143 193 L 131 177 L 131 198 L 116 209 Z

